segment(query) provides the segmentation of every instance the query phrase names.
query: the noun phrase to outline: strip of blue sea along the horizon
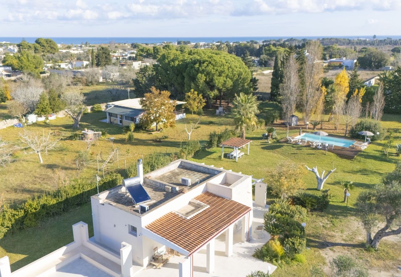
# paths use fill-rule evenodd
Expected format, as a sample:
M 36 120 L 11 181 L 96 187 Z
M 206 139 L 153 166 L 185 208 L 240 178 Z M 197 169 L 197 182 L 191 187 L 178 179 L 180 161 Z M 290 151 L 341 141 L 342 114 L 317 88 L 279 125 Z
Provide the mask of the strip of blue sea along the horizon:
M 22 39 L 25 39 L 27 42 L 34 42 L 37 37 L 0 37 L 0 42 L 6 41 L 11 43 L 21 42 Z M 46 37 L 47 38 L 47 37 Z M 298 38 L 298 39 L 317 39 L 317 38 L 372 38 L 372 36 L 221 36 L 221 37 L 50 37 L 58 44 L 81 44 L 85 42 L 89 42 L 90 44 L 107 44 L 109 42 L 114 43 L 162 43 L 162 42 L 175 42 L 178 40 L 190 41 L 190 42 L 216 42 L 216 41 L 229 41 L 229 42 L 238 42 L 238 41 L 263 41 L 263 40 L 271 40 L 271 39 L 287 39 L 287 38 Z M 393 38 L 399 39 L 400 35 L 396 36 L 377 36 L 377 39 L 383 38 Z

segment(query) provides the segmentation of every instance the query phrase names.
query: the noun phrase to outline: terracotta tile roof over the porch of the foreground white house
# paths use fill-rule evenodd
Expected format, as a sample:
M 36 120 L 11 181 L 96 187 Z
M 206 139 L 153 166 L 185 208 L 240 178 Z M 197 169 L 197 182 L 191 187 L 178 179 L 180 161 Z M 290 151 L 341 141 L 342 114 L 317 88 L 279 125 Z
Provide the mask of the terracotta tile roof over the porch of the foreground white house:
M 191 254 L 251 211 L 250 207 L 209 192 L 202 193 L 194 199 L 209 205 L 209 208 L 190 219 L 184 219 L 170 212 L 147 225 L 146 229 Z

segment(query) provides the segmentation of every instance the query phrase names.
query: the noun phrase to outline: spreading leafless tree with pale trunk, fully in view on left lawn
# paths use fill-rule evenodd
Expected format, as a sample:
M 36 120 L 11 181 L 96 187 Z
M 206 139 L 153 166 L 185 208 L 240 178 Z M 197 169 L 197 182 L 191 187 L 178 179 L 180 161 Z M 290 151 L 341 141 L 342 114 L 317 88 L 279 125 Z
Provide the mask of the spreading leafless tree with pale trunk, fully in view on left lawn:
M 58 141 L 60 139 L 53 140 L 51 138 L 51 132 L 47 136 L 45 135 L 45 130 L 43 130 L 43 135 L 35 134 L 24 130 L 24 133 L 19 133 L 20 143 L 22 146 L 16 146 L 19 149 L 24 149 L 25 154 L 38 154 L 39 161 L 43 163 L 41 153 L 44 152 L 47 155 L 47 151 L 54 149 L 58 146 Z M 25 150 L 30 151 L 25 151 Z

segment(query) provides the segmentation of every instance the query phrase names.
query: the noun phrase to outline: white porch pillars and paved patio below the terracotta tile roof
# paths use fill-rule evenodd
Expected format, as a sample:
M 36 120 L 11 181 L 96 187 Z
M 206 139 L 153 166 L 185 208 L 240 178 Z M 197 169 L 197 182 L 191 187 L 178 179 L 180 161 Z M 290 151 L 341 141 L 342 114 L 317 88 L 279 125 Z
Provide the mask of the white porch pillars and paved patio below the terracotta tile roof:
M 210 277 L 210 276 L 246 276 L 251 271 L 267 272 L 268 263 L 252 257 L 256 248 L 261 247 L 269 239 L 269 235 L 263 231 L 263 237 L 252 233 L 252 229 L 263 224 L 263 214 L 266 209 L 254 207 L 253 219 L 246 213 L 241 218 L 220 231 L 212 239 L 207 240 L 196 250 L 189 253 L 180 249 L 171 241 L 167 241 L 156 234 L 146 230 L 143 234 L 152 237 L 155 243 L 160 243 L 171 250 L 176 250 L 175 255 L 170 257 L 160 269 L 149 265 L 139 272 L 138 277 Z M 248 225 L 249 222 L 249 225 Z M 149 233 L 150 232 L 150 233 Z M 248 237 L 249 235 L 249 237 Z M 252 236 L 251 236 L 252 235 Z M 174 249 L 175 248 L 175 249 Z M 170 251 L 170 254 L 174 251 Z M 177 255 L 178 254 L 178 255 Z M 271 266 L 271 272 L 275 266 Z M 270 272 L 270 273 L 271 273 Z

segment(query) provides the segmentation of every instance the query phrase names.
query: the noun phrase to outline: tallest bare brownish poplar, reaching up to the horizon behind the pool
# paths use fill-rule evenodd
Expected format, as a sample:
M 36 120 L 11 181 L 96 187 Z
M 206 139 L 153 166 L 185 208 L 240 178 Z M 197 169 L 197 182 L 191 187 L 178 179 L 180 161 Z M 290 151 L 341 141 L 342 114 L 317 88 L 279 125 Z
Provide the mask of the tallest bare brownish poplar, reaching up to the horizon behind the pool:
M 320 96 L 320 80 L 323 77 L 322 63 L 318 62 L 322 58 L 322 46 L 320 42 L 314 40 L 306 44 L 308 56 L 304 65 L 305 92 L 303 94 L 302 112 L 304 122 L 309 122 L 312 112 L 318 104 Z

